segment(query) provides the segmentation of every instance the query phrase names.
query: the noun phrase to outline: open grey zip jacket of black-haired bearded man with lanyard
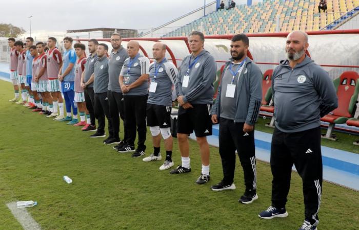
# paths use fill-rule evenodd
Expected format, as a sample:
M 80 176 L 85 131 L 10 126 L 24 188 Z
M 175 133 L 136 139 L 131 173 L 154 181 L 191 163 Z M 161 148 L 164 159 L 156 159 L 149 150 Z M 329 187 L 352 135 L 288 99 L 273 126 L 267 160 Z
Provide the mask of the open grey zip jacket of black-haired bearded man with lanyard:
M 231 62 L 226 62 L 222 78 Z M 212 115 L 221 117 L 221 86 L 218 87 L 216 101 L 212 107 Z M 239 76 L 236 85 L 236 112 L 234 122 L 245 122 L 254 125 L 259 116 L 262 102 L 262 72 L 260 68 L 249 58 L 246 59 L 245 67 Z M 226 92 L 223 92 L 226 93 Z

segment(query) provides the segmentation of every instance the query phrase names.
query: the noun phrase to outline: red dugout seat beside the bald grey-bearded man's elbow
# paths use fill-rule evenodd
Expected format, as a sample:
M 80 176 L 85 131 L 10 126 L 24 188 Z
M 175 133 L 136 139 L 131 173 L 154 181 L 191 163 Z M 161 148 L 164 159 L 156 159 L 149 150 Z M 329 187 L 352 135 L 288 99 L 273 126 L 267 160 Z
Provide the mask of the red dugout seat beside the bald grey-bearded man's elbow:
M 334 80 L 334 85 L 336 86 L 338 107 L 321 119 L 321 121 L 329 123 L 327 133 L 322 137 L 330 140 L 336 140 L 332 135 L 335 124 L 345 124 L 349 118 L 353 117 L 359 94 L 359 74 L 354 71 L 346 71 Z

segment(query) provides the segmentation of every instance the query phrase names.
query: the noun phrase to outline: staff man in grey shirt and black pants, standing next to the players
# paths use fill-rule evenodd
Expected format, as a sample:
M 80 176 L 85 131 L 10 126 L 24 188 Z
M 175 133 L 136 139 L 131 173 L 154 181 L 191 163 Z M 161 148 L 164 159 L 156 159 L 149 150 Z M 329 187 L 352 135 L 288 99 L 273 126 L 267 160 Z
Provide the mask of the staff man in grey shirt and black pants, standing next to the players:
M 96 120 L 95 120 L 95 112 L 93 109 L 93 72 L 94 65 L 97 62 L 97 45 L 98 41 L 96 39 L 90 39 L 87 43 L 87 48 L 89 49 L 90 55 L 86 59 L 85 71 L 81 76 L 81 86 L 84 88 L 85 94 L 85 104 L 86 108 L 90 114 L 91 124 L 87 124 L 82 128 L 82 131 L 96 131 Z

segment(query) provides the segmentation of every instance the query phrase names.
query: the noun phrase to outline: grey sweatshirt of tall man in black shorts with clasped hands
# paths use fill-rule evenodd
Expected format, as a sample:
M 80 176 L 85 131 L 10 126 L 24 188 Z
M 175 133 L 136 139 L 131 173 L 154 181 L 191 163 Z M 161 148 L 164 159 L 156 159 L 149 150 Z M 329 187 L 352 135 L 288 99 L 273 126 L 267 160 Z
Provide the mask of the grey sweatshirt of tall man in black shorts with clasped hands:
M 200 56 L 189 70 L 188 86 L 183 85 L 184 76 L 187 75 L 189 61 L 194 61 L 192 54 L 185 57 L 179 66 L 176 81 L 176 93 L 178 96 L 184 96 L 184 102 L 191 104 L 212 104 L 213 103 L 213 81 L 216 76 L 217 65 L 213 56 L 206 50 L 203 50 Z

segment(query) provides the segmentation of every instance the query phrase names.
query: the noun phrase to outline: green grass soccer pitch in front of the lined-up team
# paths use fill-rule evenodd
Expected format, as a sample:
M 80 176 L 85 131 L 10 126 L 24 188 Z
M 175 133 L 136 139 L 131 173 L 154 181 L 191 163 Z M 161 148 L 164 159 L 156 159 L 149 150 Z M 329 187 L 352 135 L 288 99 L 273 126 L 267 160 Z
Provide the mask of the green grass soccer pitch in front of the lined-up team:
M 297 229 L 304 220 L 301 178 L 292 173 L 287 218 L 263 220 L 271 197 L 271 172 L 257 161 L 257 193 L 252 204 L 237 202 L 244 192 L 237 159 L 234 191 L 213 192 L 222 178 L 218 149 L 211 147 L 211 180 L 201 173 L 197 144 L 190 141 L 192 172 L 170 175 L 161 162 L 145 163 L 119 154 L 89 132 L 55 122 L 8 102 L 12 86 L 0 81 L 0 229 L 21 229 L 6 204 L 35 200 L 28 208 L 42 229 Z M 123 136 L 123 129 L 121 130 Z M 151 153 L 147 133 L 146 156 Z M 162 153 L 164 146 L 162 142 Z M 173 160 L 180 164 L 177 140 Z M 68 185 L 64 175 L 73 179 Z M 359 193 L 323 182 L 318 229 L 357 229 Z M 356 226 L 356 227 L 355 227 Z

